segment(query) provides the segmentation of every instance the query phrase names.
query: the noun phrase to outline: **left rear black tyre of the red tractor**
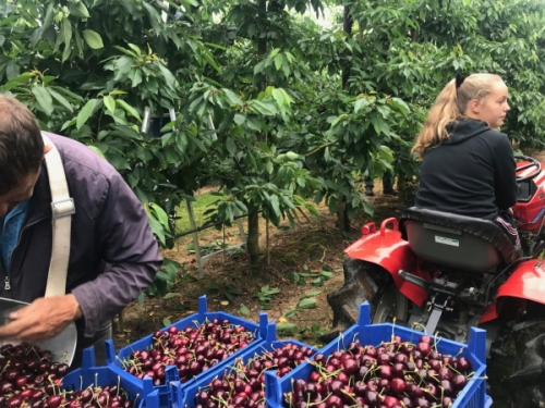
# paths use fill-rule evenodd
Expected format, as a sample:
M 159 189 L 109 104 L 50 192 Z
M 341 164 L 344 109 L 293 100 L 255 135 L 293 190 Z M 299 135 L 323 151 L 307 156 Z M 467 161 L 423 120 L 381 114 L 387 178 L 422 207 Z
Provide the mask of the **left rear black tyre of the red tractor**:
M 327 295 L 334 311 L 332 329 L 320 337 L 329 343 L 358 322 L 360 305 L 368 301 L 373 323 L 407 320 L 408 299 L 393 284 L 382 267 L 359 259 L 347 259 L 343 264 L 344 285 Z

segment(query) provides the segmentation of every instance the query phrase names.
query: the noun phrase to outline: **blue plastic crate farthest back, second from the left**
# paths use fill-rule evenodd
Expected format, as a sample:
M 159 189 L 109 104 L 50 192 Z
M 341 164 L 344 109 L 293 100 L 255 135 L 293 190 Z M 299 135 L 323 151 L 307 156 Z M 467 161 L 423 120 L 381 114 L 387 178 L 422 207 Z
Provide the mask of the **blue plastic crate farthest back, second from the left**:
M 195 326 L 199 325 L 205 321 L 209 321 L 213 319 L 218 319 L 218 320 L 228 320 L 232 324 L 237 325 L 242 325 L 244 326 L 247 331 L 253 332 L 255 334 L 255 339 L 250 343 L 245 348 L 238 350 L 237 353 L 232 354 L 229 356 L 227 359 L 220 361 L 218 364 L 214 366 L 209 370 L 196 375 L 196 378 L 185 382 L 184 384 L 189 385 L 190 383 L 198 380 L 203 374 L 207 374 L 208 372 L 217 371 L 223 369 L 226 366 L 230 364 L 231 361 L 233 361 L 237 357 L 241 356 L 243 353 L 251 351 L 255 348 L 258 348 L 262 343 L 265 341 L 267 336 L 267 313 L 259 312 L 259 324 L 256 324 L 254 322 L 251 322 L 249 320 L 244 320 L 241 318 L 238 318 L 235 316 L 222 312 L 222 311 L 217 311 L 217 312 L 208 312 L 208 307 L 207 307 L 207 301 L 206 301 L 206 296 L 201 296 L 198 298 L 198 312 L 194 313 L 192 316 L 189 316 L 175 323 L 172 323 L 171 325 L 161 329 L 160 331 L 167 331 L 169 327 L 177 327 L 179 330 L 189 327 L 189 326 Z M 106 341 L 106 361 L 107 364 L 117 373 L 120 375 L 128 375 L 131 376 L 134 381 L 136 382 L 142 382 L 142 380 L 138 380 L 132 374 L 129 374 L 126 371 L 123 370 L 123 364 L 122 361 L 126 358 L 129 358 L 134 351 L 136 350 L 146 350 L 149 349 L 153 345 L 153 333 L 141 338 L 140 341 L 136 341 L 129 346 L 125 346 L 119 350 L 119 353 L 116 355 L 116 347 L 113 345 L 112 341 Z M 170 396 L 172 393 L 170 393 L 170 383 L 172 382 L 179 382 L 180 378 L 178 375 L 178 369 L 174 366 L 168 367 L 166 370 L 166 384 L 165 385 L 156 385 L 154 386 L 155 390 L 158 391 L 159 393 L 159 407 L 160 408 L 166 408 L 166 407 L 171 407 L 172 403 L 170 401 Z

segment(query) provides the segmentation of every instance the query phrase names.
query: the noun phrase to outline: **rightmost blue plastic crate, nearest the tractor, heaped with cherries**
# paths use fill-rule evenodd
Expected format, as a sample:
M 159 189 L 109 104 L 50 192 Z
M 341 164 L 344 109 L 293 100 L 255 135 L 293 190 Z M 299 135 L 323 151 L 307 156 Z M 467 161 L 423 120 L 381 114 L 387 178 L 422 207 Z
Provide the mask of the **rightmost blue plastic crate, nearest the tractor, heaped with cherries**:
M 370 305 L 367 302 L 362 304 L 360 306 L 360 318 L 358 323 L 320 349 L 319 353 L 328 357 L 334 351 L 346 348 L 350 342 L 356 338 L 362 345 L 376 346 L 382 342 L 389 342 L 392 334 L 400 336 L 404 342 L 415 342 L 423 334 L 422 332 L 390 323 L 371 324 L 370 316 Z M 451 408 L 485 408 L 486 382 L 484 378 L 486 375 L 486 331 L 471 327 L 468 345 L 438 337 L 436 342 L 439 353 L 451 356 L 459 355 L 468 358 L 475 372 L 472 376 L 474 380 L 468 381 L 468 384 L 458 394 Z M 281 407 L 283 394 L 292 391 L 292 380 L 307 379 L 313 371 L 315 371 L 315 367 L 305 362 L 278 382 L 274 375 L 265 373 L 267 406 L 271 408 Z

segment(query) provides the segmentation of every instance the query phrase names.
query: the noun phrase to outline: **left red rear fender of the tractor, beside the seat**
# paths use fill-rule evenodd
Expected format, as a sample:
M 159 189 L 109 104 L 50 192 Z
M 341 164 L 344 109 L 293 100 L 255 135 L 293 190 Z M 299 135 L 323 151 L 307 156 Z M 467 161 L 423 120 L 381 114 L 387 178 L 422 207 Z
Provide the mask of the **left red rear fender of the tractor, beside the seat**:
M 391 230 L 386 228 L 388 224 L 392 224 Z M 398 221 L 393 218 L 384 220 L 378 231 L 376 231 L 375 223 L 367 223 L 362 227 L 362 238 L 344 249 L 344 252 L 352 259 L 383 267 L 391 275 L 399 292 L 422 307 L 428 297 L 427 293 L 422 287 L 399 276 L 399 271 L 403 270 L 427 280 L 427 276 L 424 276 L 416 268 L 416 257 L 409 243 L 401 238 Z

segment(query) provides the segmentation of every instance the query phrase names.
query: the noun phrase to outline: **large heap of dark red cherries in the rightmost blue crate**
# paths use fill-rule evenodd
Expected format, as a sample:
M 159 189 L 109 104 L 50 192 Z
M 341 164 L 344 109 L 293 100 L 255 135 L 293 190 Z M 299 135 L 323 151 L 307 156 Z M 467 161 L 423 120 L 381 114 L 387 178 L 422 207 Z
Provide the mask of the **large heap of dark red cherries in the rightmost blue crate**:
M 447 408 L 471 378 L 464 357 L 434 349 L 433 338 L 417 344 L 393 336 L 379 346 L 358 341 L 329 358 L 317 354 L 307 380 L 292 382 L 283 396 L 290 408 Z

